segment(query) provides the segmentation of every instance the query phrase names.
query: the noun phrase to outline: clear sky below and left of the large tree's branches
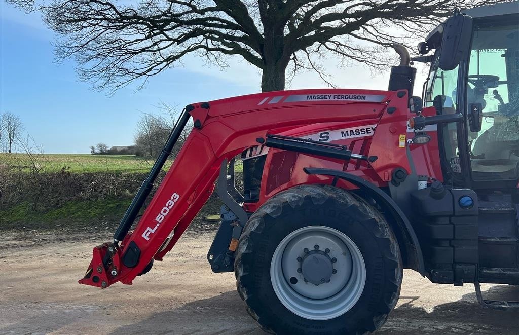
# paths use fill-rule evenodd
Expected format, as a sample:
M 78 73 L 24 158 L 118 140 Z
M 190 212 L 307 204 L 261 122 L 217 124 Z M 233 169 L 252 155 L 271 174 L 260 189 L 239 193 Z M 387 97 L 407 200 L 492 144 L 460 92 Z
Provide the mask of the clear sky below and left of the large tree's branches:
M 189 58 L 184 67 L 151 78 L 143 90 L 127 87 L 106 96 L 77 80 L 73 61 L 54 62 L 53 39 L 37 14 L 25 14 L 0 0 L 0 110 L 19 115 L 46 153 L 88 153 L 98 142 L 130 145 L 136 122 L 143 113 L 157 113 L 161 101 L 185 106 L 260 91 L 260 74 L 244 61 L 232 59 L 222 71 Z M 388 74 L 372 76 L 361 66 L 330 72 L 340 87 L 387 87 Z M 291 84 L 310 87 L 325 85 L 312 73 L 296 76 Z

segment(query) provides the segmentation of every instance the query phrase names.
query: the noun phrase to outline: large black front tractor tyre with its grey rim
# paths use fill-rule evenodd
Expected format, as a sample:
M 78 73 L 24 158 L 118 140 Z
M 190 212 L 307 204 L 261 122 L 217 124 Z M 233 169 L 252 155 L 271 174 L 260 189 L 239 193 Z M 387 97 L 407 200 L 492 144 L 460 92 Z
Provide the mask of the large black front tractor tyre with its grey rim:
M 280 192 L 251 216 L 235 260 L 238 294 L 277 334 L 379 329 L 402 284 L 400 249 L 385 218 L 337 187 Z

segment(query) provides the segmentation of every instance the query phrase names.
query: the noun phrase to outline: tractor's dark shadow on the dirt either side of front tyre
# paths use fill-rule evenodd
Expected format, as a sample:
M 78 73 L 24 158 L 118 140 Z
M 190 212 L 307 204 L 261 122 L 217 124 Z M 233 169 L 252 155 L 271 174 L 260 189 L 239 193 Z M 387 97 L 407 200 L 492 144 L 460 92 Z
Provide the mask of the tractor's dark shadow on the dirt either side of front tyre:
M 487 299 L 517 297 L 519 300 L 519 286 L 493 286 L 483 294 Z M 519 331 L 519 313 L 482 309 L 475 293 L 466 294 L 458 301 L 432 306 L 430 311 L 418 304 L 418 299 L 400 297 L 400 305 L 377 334 L 517 334 Z M 158 335 L 264 334 L 245 312 L 236 291 L 155 314 L 120 327 L 112 334 L 151 332 Z

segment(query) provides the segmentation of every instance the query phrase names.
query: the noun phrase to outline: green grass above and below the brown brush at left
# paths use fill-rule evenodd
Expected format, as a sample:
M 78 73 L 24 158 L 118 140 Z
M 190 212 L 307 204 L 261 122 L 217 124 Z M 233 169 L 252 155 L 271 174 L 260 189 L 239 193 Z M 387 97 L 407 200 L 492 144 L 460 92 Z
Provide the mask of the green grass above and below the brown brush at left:
M 120 173 L 147 173 L 154 162 L 154 159 L 132 155 L 42 154 L 33 157 L 31 159 L 31 156 L 22 153 L 0 153 L 0 171 L 7 168 L 8 170 L 19 171 L 21 169 L 23 172 L 31 172 L 33 171 L 31 164 L 36 162 L 40 171 L 58 172 L 58 177 L 60 175 L 59 172 L 64 168 L 67 173 L 99 173 L 99 175 L 110 176 L 115 181 L 121 178 L 121 182 L 124 182 L 126 180 L 125 176 Z M 165 164 L 164 170 L 168 170 L 171 163 L 172 160 L 168 161 Z M 235 164 L 235 171 L 241 173 L 243 171 L 241 160 L 237 160 Z M 19 176 L 21 174 L 16 175 Z M 238 178 L 241 178 L 241 176 L 238 175 Z M 54 183 L 55 179 L 52 177 L 49 180 Z M 56 180 L 59 181 L 61 179 L 57 178 Z M 48 185 L 52 192 L 57 192 L 59 193 L 58 195 L 61 194 L 65 202 L 60 206 L 54 205 L 52 207 L 48 205 L 48 203 L 51 203 L 50 200 L 53 200 L 52 195 L 54 194 L 49 192 L 49 194 L 38 200 L 38 208 L 47 208 L 45 210 L 33 210 L 32 200 L 29 197 L 23 197 L 24 193 L 30 194 L 30 190 L 17 189 L 16 192 L 21 194 L 19 199 L 16 198 L 18 199 L 17 201 L 11 201 L 6 203 L 5 206 L 0 206 L 0 230 L 22 227 L 52 228 L 56 225 L 71 228 L 93 227 L 100 224 L 106 226 L 117 225 L 131 203 L 133 198 L 131 194 L 136 192 L 136 189 L 130 189 L 128 194 L 122 193 L 119 197 L 108 196 L 106 198 L 108 193 L 98 191 L 99 194 L 90 194 L 90 199 L 84 199 L 84 189 L 76 190 L 76 188 L 72 187 L 72 193 L 69 194 L 67 193 L 69 189 L 66 186 L 67 184 L 64 185 L 64 189 L 52 189 L 53 185 Z M 66 199 L 69 200 L 66 201 Z M 60 201 L 60 203 L 63 203 L 63 201 Z M 219 201 L 212 199 L 204 207 L 206 209 L 202 210 L 200 215 L 216 214 L 220 205 Z

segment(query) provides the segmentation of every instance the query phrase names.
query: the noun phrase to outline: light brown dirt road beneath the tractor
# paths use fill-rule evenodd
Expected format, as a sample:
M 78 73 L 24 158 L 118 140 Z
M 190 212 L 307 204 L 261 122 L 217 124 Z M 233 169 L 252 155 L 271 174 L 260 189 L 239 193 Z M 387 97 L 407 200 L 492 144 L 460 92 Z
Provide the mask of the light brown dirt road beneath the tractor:
M 57 238 L 56 236 L 60 236 Z M 108 235 L 3 233 L 0 333 L 263 334 L 236 293 L 233 273 L 214 274 L 212 233 L 187 232 L 134 284 L 101 290 L 77 284 L 92 247 Z M 483 285 L 488 298 L 519 298 L 519 287 Z M 405 271 L 397 309 L 380 334 L 517 334 L 519 313 L 483 310 L 472 285 L 434 285 Z

